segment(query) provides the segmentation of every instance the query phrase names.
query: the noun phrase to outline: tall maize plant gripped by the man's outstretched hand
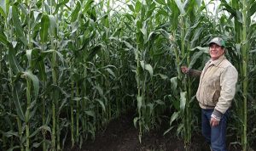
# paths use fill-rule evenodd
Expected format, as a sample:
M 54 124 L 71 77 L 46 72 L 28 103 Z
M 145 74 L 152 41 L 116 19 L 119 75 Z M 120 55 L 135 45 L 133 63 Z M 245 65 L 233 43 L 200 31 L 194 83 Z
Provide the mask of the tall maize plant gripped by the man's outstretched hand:
M 182 120 L 177 126 L 177 133 L 183 135 L 186 148 L 191 141 L 192 125 L 195 122 L 192 112 L 195 108 L 195 103 L 192 103 L 195 91 L 191 78 L 181 74 L 180 66 L 187 64 L 189 68 L 195 68 L 195 63 L 207 52 L 207 48 L 195 48 L 203 43 L 202 39 L 207 39 L 207 22 L 204 22 L 205 14 L 200 12 L 204 9 L 201 3 L 169 1 L 166 6 L 168 7 L 166 13 L 170 14 L 171 22 L 170 49 L 175 54 L 177 72 L 177 76 L 171 78 L 172 99 L 177 111 L 172 114 L 170 128 L 166 132 L 172 130 L 174 120 Z

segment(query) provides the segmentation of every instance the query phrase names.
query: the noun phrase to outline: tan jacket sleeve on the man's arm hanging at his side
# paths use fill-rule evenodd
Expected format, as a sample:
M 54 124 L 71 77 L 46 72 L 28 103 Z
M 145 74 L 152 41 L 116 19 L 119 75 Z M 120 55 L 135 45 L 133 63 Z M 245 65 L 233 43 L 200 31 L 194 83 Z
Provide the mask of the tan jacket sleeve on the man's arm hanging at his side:
M 238 73 L 234 66 L 228 66 L 220 76 L 220 97 L 212 115 L 221 119 L 222 115 L 230 108 L 236 92 Z

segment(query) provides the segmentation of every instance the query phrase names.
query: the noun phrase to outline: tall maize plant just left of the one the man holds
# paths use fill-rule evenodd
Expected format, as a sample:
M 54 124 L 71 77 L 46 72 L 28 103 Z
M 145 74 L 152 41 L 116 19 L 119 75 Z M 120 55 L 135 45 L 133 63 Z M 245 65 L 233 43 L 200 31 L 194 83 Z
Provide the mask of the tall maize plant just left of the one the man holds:
M 159 92 L 160 87 L 166 87 L 165 84 L 160 83 L 167 77 L 166 70 L 160 70 L 166 68 L 166 64 L 163 65 L 160 57 L 166 53 L 165 42 L 168 34 L 164 29 L 166 25 L 160 25 L 164 24 L 165 20 L 161 20 L 162 14 L 157 13 L 157 5 L 159 3 L 148 0 L 132 1 L 128 4 L 131 12 L 124 14 L 125 18 L 130 21 L 129 24 L 125 22 L 125 25 L 134 36 L 132 41 L 124 43 L 134 52 L 136 60 L 134 72 L 137 81 L 138 115 L 133 121 L 136 127 L 138 124 L 140 142 L 142 142 L 144 132 L 157 126 L 165 105 L 164 96 Z M 163 66 L 158 67 L 156 64 Z

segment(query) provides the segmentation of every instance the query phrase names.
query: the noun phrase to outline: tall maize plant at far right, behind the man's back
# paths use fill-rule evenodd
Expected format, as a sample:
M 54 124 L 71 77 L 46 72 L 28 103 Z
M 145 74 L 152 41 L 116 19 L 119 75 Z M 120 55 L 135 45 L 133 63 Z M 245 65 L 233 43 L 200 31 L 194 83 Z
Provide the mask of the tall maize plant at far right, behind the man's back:
M 252 99 L 248 97 L 252 96 L 253 93 L 249 90 L 249 75 L 253 72 L 252 64 L 253 59 L 250 58 L 250 53 L 253 50 L 253 41 L 255 41 L 255 36 L 253 34 L 255 30 L 255 20 L 253 20 L 253 16 L 255 16 L 255 5 L 254 1 L 231 1 L 230 3 L 222 2 L 224 6 L 224 10 L 230 13 L 230 17 L 234 17 L 234 39 L 235 39 L 235 50 L 236 50 L 236 59 L 239 59 L 242 64 L 237 64 L 237 69 L 239 70 L 239 75 L 241 76 L 241 81 L 239 81 L 239 85 L 241 86 L 241 101 L 236 102 L 238 117 L 241 119 L 241 129 L 239 129 L 239 133 L 241 133 L 241 146 L 243 150 L 247 150 L 248 140 L 247 140 L 247 118 L 250 114 L 248 112 L 253 108 L 251 106 L 253 103 Z M 230 19 L 229 19 L 230 20 Z M 235 60 L 238 61 L 238 60 Z M 249 106 L 247 106 L 249 104 Z M 242 108 L 241 108 L 242 107 Z M 252 110 L 253 111 L 253 110 Z M 250 111 L 251 112 L 251 111 Z M 254 111 L 253 111 L 254 112 Z

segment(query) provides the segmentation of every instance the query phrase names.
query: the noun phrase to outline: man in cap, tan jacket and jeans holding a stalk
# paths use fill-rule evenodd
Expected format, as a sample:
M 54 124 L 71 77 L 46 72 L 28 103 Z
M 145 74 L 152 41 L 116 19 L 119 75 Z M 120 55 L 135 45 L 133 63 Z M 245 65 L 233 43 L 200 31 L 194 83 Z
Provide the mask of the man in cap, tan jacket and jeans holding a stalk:
M 215 37 L 209 42 L 211 59 L 202 71 L 182 66 L 183 73 L 200 76 L 196 98 L 201 107 L 202 135 L 213 151 L 226 151 L 226 126 L 236 92 L 237 70 L 224 57 L 225 42 Z

